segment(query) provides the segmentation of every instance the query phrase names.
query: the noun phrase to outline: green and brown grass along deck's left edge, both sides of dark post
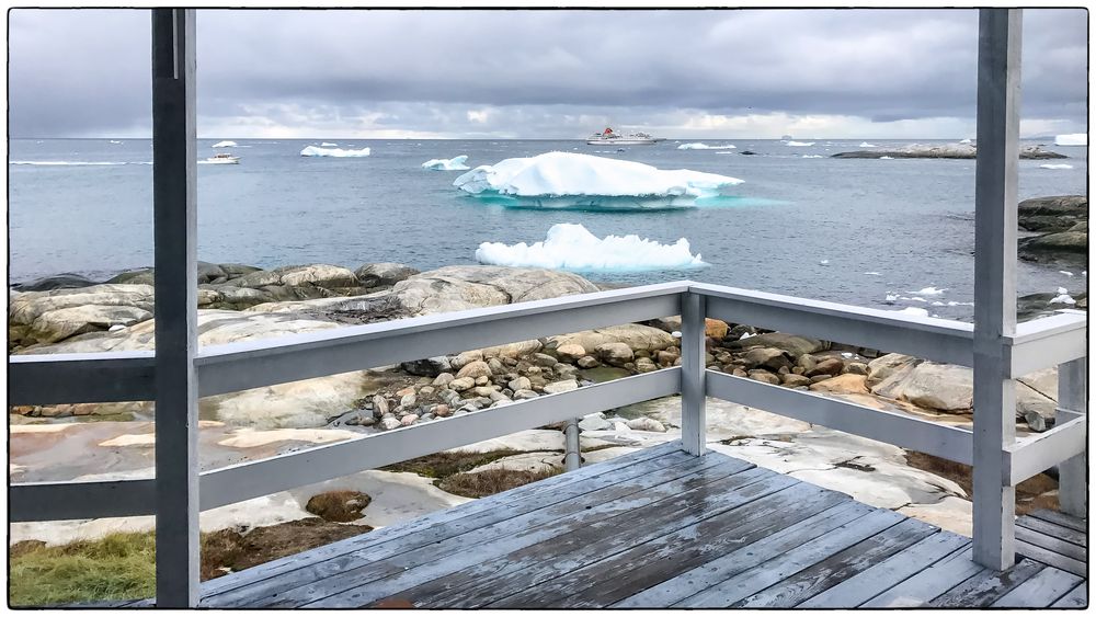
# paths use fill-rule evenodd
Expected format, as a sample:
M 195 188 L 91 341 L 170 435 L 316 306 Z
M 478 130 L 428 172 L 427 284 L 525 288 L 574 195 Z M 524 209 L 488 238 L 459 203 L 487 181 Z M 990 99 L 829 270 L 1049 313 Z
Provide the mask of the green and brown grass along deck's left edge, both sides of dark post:
M 256 527 L 247 534 L 221 529 L 202 534 L 202 580 L 369 532 L 322 518 Z M 156 595 L 156 535 L 111 534 L 47 547 L 37 540 L 8 549 L 11 606 L 57 606 L 73 602 L 137 599 Z

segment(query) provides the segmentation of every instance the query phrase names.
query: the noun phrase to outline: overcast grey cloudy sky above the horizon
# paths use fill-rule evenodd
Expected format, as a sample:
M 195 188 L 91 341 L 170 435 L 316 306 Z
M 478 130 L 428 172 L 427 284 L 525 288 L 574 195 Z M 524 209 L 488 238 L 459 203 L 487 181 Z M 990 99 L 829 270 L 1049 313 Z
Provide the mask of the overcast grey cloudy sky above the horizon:
M 149 135 L 141 10 L 9 12 L 13 137 Z M 1025 11 L 1023 135 L 1087 128 L 1087 13 Z M 202 137 L 959 138 L 959 10 L 199 11 Z

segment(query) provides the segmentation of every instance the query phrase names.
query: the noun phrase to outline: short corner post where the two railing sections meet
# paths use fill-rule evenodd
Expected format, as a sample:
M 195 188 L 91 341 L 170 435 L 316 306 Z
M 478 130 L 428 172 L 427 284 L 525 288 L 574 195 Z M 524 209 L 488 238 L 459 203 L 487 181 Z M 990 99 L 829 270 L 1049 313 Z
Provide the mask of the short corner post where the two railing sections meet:
M 682 449 L 705 453 L 705 297 L 682 294 Z

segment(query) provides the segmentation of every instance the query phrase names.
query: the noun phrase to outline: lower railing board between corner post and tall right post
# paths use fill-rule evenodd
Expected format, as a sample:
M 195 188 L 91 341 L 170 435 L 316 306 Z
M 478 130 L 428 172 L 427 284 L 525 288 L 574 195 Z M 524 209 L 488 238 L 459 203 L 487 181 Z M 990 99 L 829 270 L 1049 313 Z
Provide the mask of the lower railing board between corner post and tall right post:
M 912 415 L 708 370 L 708 396 L 931 454 L 971 462 L 971 433 Z

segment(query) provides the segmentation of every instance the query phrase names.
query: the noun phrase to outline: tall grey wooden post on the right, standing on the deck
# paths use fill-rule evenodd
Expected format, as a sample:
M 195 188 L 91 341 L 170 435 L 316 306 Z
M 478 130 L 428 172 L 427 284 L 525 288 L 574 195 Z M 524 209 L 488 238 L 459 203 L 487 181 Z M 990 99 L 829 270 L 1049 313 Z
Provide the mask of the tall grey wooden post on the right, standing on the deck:
M 1016 438 L 1016 390 L 1005 336 L 1016 332 L 1018 9 L 980 9 L 974 173 L 974 561 L 1013 565 L 1016 490 L 1002 448 Z

